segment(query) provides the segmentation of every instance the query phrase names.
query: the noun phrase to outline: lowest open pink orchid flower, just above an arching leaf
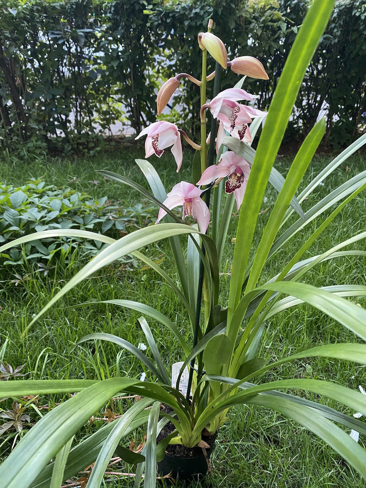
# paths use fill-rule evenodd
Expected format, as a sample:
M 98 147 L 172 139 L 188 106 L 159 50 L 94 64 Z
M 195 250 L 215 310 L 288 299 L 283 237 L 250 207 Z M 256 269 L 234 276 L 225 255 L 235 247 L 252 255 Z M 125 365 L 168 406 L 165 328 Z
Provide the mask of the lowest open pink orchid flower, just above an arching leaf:
M 178 205 L 183 205 L 183 220 L 191 215 L 198 222 L 201 232 L 205 233 L 209 223 L 209 211 L 205 202 L 200 198 L 202 191 L 186 181 L 180 181 L 168 193 L 167 199 L 163 202 L 170 210 Z M 159 210 L 156 224 L 166 215 L 166 211 Z

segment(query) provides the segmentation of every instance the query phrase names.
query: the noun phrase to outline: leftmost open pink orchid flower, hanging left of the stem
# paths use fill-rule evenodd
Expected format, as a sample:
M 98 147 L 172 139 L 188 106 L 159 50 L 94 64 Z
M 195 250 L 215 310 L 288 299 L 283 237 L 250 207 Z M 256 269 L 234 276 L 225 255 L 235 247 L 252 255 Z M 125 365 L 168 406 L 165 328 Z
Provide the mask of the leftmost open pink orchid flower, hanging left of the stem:
M 139 139 L 144 135 L 147 135 L 145 141 L 145 158 L 148 158 L 153 153 L 160 158 L 164 153 L 164 149 L 172 146 L 171 151 L 175 158 L 178 172 L 183 160 L 183 153 L 177 126 L 166 120 L 161 120 L 146 127 L 135 139 Z

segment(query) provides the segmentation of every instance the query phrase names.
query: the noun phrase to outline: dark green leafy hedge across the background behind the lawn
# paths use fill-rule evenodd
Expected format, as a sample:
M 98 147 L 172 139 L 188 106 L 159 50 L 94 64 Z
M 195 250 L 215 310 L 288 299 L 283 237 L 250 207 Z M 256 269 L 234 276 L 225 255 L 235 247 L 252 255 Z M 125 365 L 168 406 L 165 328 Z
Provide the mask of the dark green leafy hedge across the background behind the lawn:
M 10 149 L 95 144 L 117 120 L 139 132 L 155 120 L 156 93 L 173 74 L 199 76 L 197 33 L 209 18 L 229 57 L 253 55 L 269 81 L 248 80 L 268 107 L 309 0 L 0 0 L 0 140 Z M 232 86 L 236 76 L 225 77 Z M 290 122 L 301 138 L 320 112 L 326 142 L 355 139 L 366 112 L 366 3 L 340 0 Z M 198 92 L 182 84 L 165 117 L 197 131 Z

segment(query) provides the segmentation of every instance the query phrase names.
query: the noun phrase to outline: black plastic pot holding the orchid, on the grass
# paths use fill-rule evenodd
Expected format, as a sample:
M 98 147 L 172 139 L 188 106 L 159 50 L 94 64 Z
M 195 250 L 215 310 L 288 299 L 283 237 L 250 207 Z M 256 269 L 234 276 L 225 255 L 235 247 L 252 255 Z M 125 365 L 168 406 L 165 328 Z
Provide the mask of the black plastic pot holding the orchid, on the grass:
M 158 476 L 167 476 L 170 473 L 174 479 L 187 481 L 204 476 L 207 473 L 207 460 L 210 458 L 212 447 L 206 449 L 207 457 L 202 450 L 202 454 L 192 457 L 174 456 L 166 452 L 164 459 L 158 463 Z

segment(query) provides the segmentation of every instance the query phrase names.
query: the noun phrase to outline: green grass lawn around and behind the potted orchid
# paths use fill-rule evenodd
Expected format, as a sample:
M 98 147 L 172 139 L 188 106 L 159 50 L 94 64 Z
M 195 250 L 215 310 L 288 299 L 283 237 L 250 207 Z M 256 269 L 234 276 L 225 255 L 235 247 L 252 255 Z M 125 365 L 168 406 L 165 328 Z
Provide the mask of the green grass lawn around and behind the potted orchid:
M 135 158 L 143 158 L 142 146 L 130 146 L 118 153 L 97 155 L 72 160 L 57 158 L 24 158 L 24 161 L 8 158 L 2 163 L 3 181 L 7 184 L 21 185 L 29 178 L 42 178 L 47 184 L 58 187 L 69 186 L 86 192 L 93 198 L 107 196 L 120 207 L 134 207 L 136 220 L 134 226 L 154 222 L 158 209 L 151 208 L 149 202 L 128 187 L 118 186 L 110 180 L 101 178 L 95 170 L 105 169 L 128 176 L 144 185 L 142 174 L 136 167 Z M 304 178 L 304 186 L 311 176 L 317 174 L 329 161 L 329 155 L 318 155 Z M 190 162 L 184 162 L 179 175 L 175 173 L 175 163 L 170 151 L 159 160 L 151 157 L 150 162 L 160 173 L 167 191 L 180 179 L 190 181 Z M 290 157 L 278 159 L 276 168 L 283 174 L 289 167 Z M 364 170 L 366 158 L 356 155 L 342 164 L 333 174 L 311 194 L 309 201 L 304 202 L 306 210 L 315 201 L 350 177 Z M 266 218 L 273 203 L 274 191 L 268 189 L 267 199 L 263 202 L 259 219 L 258 236 L 263 230 Z M 143 208 L 147 208 L 143 212 Z M 227 283 L 230 279 L 230 263 L 233 251 L 232 239 L 235 237 L 235 226 L 238 213 L 233 214 L 228 240 L 225 248 L 224 266 L 221 270 L 222 303 L 225 303 Z M 327 229 L 324 235 L 314 243 L 307 256 L 319 254 L 348 236 L 365 230 L 366 196 L 361 194 L 346 207 L 345 211 Z M 309 226 L 311 227 L 311 226 Z M 308 235 L 311 228 L 303 229 L 302 235 Z M 297 239 L 302 235 L 298 234 Z M 298 242 L 297 242 L 298 244 Z M 275 275 L 282 268 L 282 263 L 297 249 L 290 243 L 286 252 L 273 256 L 268 264 L 267 278 Z M 359 242 L 355 249 L 365 249 L 364 242 Z M 80 253 L 81 254 L 81 253 Z M 174 273 L 166 242 L 151 246 L 148 254 Z M 27 379 L 47 378 L 108 378 L 115 375 L 130 375 L 138 378 L 143 369 L 134 356 L 120 351 L 110 344 L 84 343 L 82 347 L 73 348 L 84 335 L 92 332 L 107 332 L 120 335 L 133 344 L 145 342 L 144 335 L 137 323 L 137 313 L 103 303 L 80 303 L 102 301 L 111 298 L 130 298 L 146 301 L 174 320 L 185 330 L 185 310 L 172 292 L 164 287 L 158 275 L 145 269 L 138 262 L 118 262 L 97 276 L 85 281 L 79 288 L 68 293 L 43 316 L 22 338 L 22 332 L 47 303 L 80 268 L 81 255 L 76 251 L 68 264 L 53 262 L 48 274 L 37 271 L 37 266 L 28 263 L 22 266 L 3 265 L 0 267 L 1 310 L 0 310 L 0 361 L 5 361 L 13 368 L 24 364 L 21 373 Z M 310 276 L 303 281 L 315 285 L 333 285 L 343 283 L 365 284 L 366 259 L 342 258 L 318 265 Z M 14 277 L 18 275 L 18 279 Z M 358 299 L 365 307 L 365 300 Z M 136 324 L 137 323 L 137 324 Z M 166 330 L 149 321 L 163 358 L 171 363 L 179 358 L 179 351 Z M 302 350 L 326 342 L 347 342 L 353 340 L 353 334 L 319 311 L 299 306 L 275 316 L 266 324 L 261 356 L 273 361 L 295 350 Z M 187 337 L 190 331 L 187 329 Z M 179 358 L 180 359 L 180 358 Z M 146 372 L 147 374 L 147 372 Z M 308 359 L 297 361 L 269 373 L 278 379 L 293 377 L 321 378 L 338 381 L 343 385 L 358 390 L 358 385 L 366 386 L 364 368 L 349 363 Z M 148 378 L 148 376 L 147 376 Z M 311 395 L 309 396 L 312 399 Z M 43 414 L 47 408 L 62 401 L 57 398 L 27 400 L 30 404 L 25 412 L 31 416 L 31 423 L 39 418 L 38 407 Z M 112 411 L 122 413 L 129 400 L 118 400 L 108 405 Z M 11 401 L 6 400 L 0 408 L 11 408 Z M 24 403 L 24 400 L 23 400 Z M 331 401 L 329 406 L 335 406 Z M 97 429 L 103 423 L 97 419 L 85 426 L 85 432 Z M 354 412 L 350 412 L 354 413 Z M 0 422 L 1 426 L 2 422 Z M 29 425 L 25 422 L 24 429 Z M 84 432 L 84 434 L 85 434 Z M 21 434 L 7 431 L 0 436 L 0 459 L 3 459 L 19 441 Z M 80 433 L 80 438 L 83 433 Z M 135 443 L 143 440 L 143 432 L 138 432 Z M 364 439 L 360 436 L 360 443 Z M 128 472 L 128 467 L 119 465 L 110 468 L 110 472 Z M 332 451 L 315 435 L 301 426 L 288 421 L 279 414 L 256 407 L 235 407 L 228 422 L 219 432 L 217 446 L 212 456 L 212 476 L 194 483 L 193 486 L 215 486 L 229 488 L 232 486 L 251 488 L 318 488 L 347 486 L 358 488 L 366 486 L 358 473 L 350 469 L 342 458 Z M 70 483 L 71 486 L 71 483 Z M 109 475 L 105 486 L 133 486 L 133 479 L 126 476 Z

